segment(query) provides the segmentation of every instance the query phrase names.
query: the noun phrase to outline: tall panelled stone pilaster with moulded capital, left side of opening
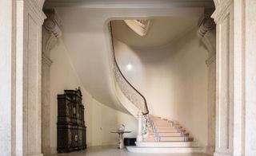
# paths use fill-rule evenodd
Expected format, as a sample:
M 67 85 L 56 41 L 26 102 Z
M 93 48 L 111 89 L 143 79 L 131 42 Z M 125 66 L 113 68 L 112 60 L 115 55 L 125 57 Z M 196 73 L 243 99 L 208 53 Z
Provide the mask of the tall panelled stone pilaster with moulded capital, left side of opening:
M 42 155 L 42 23 L 39 1 L 16 1 L 16 151 Z M 41 1 L 40 1 L 41 2 Z M 43 2 L 41 2 L 42 5 Z

